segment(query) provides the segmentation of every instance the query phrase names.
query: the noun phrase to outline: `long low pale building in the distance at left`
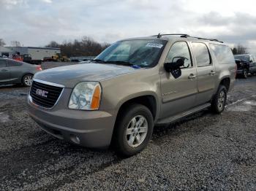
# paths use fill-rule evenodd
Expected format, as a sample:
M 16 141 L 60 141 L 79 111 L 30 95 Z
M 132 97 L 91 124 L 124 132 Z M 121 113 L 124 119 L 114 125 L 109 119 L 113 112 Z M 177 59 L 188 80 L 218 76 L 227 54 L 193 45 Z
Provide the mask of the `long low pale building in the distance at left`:
M 32 60 L 42 60 L 45 57 L 52 57 L 60 54 L 60 48 L 52 47 L 5 47 L 12 52 L 12 55 L 31 55 Z

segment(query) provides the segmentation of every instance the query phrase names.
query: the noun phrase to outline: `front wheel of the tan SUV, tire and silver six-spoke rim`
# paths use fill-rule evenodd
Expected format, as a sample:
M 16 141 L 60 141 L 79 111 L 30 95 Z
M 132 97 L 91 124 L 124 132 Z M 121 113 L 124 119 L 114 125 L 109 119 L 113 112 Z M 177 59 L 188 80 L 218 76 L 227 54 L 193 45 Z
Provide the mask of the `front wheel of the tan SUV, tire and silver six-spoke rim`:
M 153 128 L 153 116 L 146 106 L 128 106 L 121 111 L 116 121 L 113 133 L 113 146 L 116 147 L 116 152 L 124 157 L 136 155 L 147 146 Z

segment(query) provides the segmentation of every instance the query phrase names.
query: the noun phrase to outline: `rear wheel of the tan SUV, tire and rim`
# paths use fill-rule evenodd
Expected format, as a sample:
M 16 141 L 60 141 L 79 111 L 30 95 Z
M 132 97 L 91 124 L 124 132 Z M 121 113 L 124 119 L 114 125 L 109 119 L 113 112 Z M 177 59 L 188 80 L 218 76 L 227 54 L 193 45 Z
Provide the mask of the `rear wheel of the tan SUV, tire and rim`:
M 224 85 L 219 85 L 217 93 L 211 101 L 211 110 L 214 113 L 220 114 L 225 109 L 227 101 L 227 88 Z

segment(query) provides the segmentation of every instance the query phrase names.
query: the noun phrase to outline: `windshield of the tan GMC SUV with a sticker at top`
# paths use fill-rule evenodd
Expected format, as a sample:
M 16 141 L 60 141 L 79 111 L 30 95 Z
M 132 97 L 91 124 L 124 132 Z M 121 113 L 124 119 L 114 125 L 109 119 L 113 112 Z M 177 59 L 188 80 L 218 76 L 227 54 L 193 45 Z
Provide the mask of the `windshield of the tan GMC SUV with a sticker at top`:
M 166 43 L 167 41 L 165 40 L 120 41 L 104 50 L 94 61 L 153 67 L 157 65 Z

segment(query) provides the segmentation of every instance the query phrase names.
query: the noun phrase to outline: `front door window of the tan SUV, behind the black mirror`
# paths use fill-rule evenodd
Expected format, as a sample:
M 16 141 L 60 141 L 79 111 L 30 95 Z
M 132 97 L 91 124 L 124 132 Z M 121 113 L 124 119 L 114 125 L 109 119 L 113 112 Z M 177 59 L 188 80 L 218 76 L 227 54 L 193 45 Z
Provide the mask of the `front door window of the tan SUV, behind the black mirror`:
M 175 42 L 165 59 L 165 63 L 172 63 L 177 61 L 177 58 L 184 58 L 184 66 L 182 68 L 192 67 L 191 56 L 187 42 Z M 186 67 L 185 67 L 186 66 Z

